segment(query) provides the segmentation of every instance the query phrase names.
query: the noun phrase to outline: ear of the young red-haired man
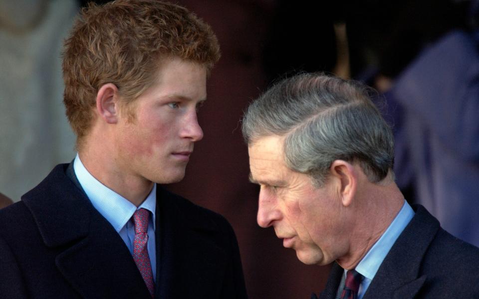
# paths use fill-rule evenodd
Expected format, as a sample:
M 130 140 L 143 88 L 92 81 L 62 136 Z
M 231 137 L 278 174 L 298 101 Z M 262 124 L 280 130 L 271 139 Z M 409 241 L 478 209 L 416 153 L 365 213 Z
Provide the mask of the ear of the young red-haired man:
M 106 123 L 117 123 L 119 116 L 118 88 L 113 83 L 100 87 L 96 94 L 96 110 Z

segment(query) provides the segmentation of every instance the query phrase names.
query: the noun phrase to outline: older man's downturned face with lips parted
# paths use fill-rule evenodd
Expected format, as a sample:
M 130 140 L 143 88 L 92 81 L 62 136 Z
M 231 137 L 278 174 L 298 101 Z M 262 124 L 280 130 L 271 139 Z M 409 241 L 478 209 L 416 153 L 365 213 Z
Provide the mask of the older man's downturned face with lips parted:
M 347 252 L 341 200 L 333 184 L 315 188 L 305 174 L 290 170 L 283 139 L 268 136 L 249 146 L 251 182 L 260 185 L 257 221 L 273 226 L 283 246 L 305 264 L 326 265 Z

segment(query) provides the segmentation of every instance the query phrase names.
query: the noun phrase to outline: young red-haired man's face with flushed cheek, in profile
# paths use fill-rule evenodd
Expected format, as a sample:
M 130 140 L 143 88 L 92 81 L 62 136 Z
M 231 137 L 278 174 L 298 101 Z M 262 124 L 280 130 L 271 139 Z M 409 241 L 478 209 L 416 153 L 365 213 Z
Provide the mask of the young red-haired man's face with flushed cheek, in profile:
M 166 184 L 178 182 L 203 138 L 198 107 L 206 100 L 206 68 L 173 58 L 133 103 L 134 120 L 124 113 L 117 130 L 117 163 L 127 175 Z

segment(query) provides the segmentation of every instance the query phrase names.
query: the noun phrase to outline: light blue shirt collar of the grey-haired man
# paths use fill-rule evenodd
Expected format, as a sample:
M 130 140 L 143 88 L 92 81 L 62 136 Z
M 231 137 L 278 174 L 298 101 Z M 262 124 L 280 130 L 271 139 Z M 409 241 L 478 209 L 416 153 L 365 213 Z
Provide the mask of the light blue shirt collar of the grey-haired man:
M 379 266 L 381 266 L 389 250 L 391 250 L 391 247 L 393 247 L 399 235 L 409 224 L 413 216 L 414 210 L 409 203 L 404 200 L 403 207 L 396 215 L 393 222 L 391 222 L 388 229 L 386 229 L 381 238 L 379 238 L 376 244 L 371 247 L 366 256 L 356 266 L 356 271 L 364 276 L 364 279 L 359 286 L 358 299 L 363 298 L 364 293 L 366 293 L 366 290 L 371 284 L 376 272 L 378 272 Z M 343 280 L 346 278 L 346 273 L 347 270 L 344 270 Z

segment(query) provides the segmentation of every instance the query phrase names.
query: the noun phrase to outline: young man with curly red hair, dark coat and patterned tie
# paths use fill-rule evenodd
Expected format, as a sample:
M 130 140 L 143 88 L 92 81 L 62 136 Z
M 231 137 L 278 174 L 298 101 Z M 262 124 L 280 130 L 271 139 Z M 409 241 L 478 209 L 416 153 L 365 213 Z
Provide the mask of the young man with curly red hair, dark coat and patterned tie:
M 203 137 L 211 28 L 162 1 L 90 4 L 63 55 L 78 155 L 1 210 L 1 297 L 246 298 L 230 224 L 159 185 Z

